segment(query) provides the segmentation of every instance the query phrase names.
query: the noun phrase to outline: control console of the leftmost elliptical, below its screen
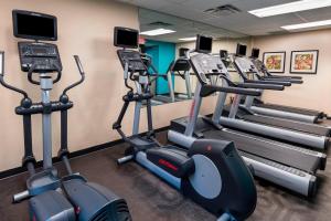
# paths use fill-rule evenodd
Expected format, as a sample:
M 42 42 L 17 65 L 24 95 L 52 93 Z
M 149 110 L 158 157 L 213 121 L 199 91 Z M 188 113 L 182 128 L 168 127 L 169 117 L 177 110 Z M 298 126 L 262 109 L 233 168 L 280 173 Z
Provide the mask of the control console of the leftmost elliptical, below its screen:
M 57 46 L 49 43 L 19 42 L 21 70 L 47 73 L 62 71 Z

